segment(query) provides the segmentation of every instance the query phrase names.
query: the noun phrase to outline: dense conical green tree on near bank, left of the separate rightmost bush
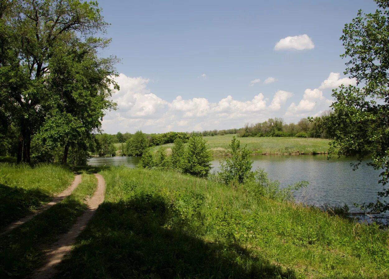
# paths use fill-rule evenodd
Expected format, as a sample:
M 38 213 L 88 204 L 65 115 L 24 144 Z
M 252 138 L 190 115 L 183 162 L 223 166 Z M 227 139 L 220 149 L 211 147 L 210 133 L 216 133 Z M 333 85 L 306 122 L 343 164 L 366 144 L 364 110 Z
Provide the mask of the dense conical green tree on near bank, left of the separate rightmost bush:
M 182 162 L 182 171 L 195 176 L 207 177 L 212 169 L 211 153 L 207 141 L 201 135 L 192 133 L 189 138 Z

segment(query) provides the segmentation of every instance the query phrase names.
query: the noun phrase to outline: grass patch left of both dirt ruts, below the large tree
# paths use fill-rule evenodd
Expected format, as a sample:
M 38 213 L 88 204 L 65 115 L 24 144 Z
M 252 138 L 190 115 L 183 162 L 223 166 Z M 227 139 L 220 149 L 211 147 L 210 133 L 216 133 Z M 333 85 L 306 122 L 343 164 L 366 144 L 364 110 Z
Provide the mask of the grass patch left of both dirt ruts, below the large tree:
M 0 163 L 0 229 L 67 188 L 74 174 L 63 167 Z

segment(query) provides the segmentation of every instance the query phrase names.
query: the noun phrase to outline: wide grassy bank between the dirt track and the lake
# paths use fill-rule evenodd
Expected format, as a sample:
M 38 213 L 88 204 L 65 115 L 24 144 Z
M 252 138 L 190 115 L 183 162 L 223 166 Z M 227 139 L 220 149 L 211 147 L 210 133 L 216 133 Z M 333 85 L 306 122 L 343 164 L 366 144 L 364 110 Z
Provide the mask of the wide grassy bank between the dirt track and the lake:
M 387 278 L 388 234 L 166 171 L 101 173 L 105 202 L 57 278 Z

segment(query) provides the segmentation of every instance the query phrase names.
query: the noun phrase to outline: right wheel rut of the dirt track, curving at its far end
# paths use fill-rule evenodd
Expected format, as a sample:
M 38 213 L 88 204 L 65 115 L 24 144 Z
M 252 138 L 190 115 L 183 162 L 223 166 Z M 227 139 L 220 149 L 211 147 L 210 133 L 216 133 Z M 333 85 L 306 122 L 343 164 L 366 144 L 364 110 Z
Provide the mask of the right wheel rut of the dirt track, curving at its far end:
M 32 276 L 35 279 L 47 279 L 54 276 L 57 273 L 56 265 L 61 262 L 63 256 L 70 252 L 72 244 L 82 230 L 86 227 L 89 220 L 93 217 L 98 206 L 104 201 L 105 194 L 105 181 L 100 174 L 95 174 L 98 185 L 95 194 L 87 202 L 88 208 L 77 219 L 77 222 L 70 228 L 69 232 L 53 244 L 51 248 L 46 252 L 46 261 L 44 265 L 36 270 Z

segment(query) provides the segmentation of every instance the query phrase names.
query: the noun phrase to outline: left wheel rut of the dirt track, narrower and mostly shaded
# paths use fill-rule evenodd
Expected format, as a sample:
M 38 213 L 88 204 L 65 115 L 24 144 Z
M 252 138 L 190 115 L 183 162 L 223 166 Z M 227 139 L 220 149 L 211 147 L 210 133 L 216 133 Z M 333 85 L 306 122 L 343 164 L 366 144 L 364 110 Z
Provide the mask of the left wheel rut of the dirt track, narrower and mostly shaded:
M 4 228 L 4 231 L 0 233 L 1 235 L 8 234 L 13 230 L 14 228 L 17 228 L 24 223 L 26 223 L 28 220 L 31 220 L 33 217 L 37 216 L 38 214 L 42 213 L 43 211 L 51 208 L 54 204 L 58 204 L 58 202 L 65 199 L 68 195 L 72 194 L 73 190 L 80 184 L 81 182 L 81 174 L 76 174 L 72 185 L 70 185 L 68 188 L 63 190 L 60 194 L 58 194 L 51 202 L 48 204 L 45 204 L 44 206 L 41 206 L 37 210 L 35 210 L 32 214 L 27 215 L 26 217 L 23 217 L 17 221 L 12 222 L 10 225 Z

